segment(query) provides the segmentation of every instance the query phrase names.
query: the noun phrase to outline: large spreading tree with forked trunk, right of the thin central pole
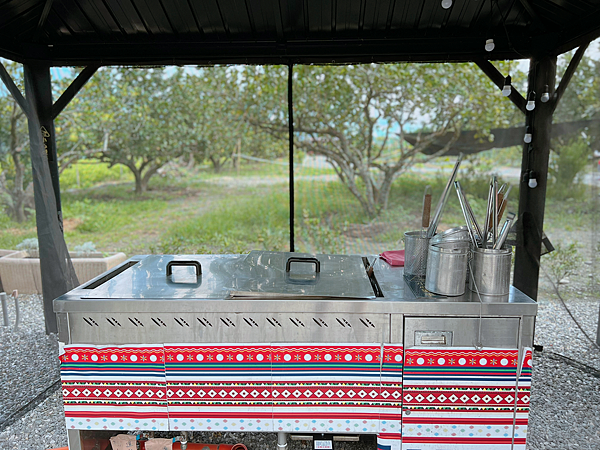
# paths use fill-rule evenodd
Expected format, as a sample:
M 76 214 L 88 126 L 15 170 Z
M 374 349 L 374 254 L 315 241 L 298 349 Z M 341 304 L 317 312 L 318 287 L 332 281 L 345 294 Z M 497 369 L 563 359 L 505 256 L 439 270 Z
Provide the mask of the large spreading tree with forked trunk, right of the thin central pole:
M 287 139 L 287 69 L 246 70 L 255 80 L 249 121 Z M 516 108 L 469 64 L 295 66 L 293 81 L 296 146 L 325 156 L 370 217 L 387 208 L 393 181 L 438 136 L 455 138 L 431 157 L 463 127 L 516 120 Z M 403 138 L 409 131 L 419 133 L 412 145 Z

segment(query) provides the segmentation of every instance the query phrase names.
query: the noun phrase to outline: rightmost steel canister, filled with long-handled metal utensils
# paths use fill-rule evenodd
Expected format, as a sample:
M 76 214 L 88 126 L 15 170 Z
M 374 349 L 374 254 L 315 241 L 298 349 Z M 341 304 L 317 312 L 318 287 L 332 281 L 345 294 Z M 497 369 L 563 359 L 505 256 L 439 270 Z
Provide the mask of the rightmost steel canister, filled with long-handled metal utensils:
M 508 300 L 511 257 L 511 247 L 474 249 L 469 289 L 479 292 L 482 301 Z

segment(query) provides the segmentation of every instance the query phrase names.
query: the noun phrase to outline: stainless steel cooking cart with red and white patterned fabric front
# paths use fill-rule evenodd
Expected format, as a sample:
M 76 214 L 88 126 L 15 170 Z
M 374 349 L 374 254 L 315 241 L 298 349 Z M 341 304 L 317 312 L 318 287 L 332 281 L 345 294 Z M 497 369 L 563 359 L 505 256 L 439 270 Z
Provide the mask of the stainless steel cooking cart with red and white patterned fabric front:
M 373 434 L 524 449 L 537 304 L 425 291 L 374 257 L 136 256 L 59 297 L 82 430 Z

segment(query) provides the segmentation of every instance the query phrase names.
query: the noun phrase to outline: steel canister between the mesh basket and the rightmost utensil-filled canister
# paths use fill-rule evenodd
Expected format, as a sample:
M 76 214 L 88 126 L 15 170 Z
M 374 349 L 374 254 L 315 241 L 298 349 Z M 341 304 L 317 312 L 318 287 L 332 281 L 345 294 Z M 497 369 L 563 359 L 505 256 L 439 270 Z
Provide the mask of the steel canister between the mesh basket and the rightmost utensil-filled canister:
M 470 246 L 466 241 L 429 246 L 425 289 L 440 295 L 462 295 L 466 289 Z

